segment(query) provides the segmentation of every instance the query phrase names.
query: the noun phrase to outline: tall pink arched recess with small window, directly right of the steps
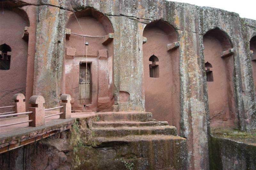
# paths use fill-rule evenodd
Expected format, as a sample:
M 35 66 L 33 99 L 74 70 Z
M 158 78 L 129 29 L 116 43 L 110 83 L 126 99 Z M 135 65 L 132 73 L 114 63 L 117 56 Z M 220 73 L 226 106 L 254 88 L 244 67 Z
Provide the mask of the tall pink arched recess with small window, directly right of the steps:
M 180 127 L 180 78 L 178 35 L 163 20 L 149 23 L 143 36 L 145 109 L 156 120 Z M 155 69 L 156 76 L 151 76 Z

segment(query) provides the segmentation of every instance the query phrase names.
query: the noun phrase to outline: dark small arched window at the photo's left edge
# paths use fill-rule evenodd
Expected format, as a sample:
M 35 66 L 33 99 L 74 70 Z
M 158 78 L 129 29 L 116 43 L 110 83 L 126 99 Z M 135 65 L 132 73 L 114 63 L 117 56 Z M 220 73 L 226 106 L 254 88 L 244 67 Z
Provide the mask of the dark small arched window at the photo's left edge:
M 10 69 L 11 55 L 8 55 L 10 51 L 12 51 L 12 49 L 9 45 L 0 45 L 0 70 Z

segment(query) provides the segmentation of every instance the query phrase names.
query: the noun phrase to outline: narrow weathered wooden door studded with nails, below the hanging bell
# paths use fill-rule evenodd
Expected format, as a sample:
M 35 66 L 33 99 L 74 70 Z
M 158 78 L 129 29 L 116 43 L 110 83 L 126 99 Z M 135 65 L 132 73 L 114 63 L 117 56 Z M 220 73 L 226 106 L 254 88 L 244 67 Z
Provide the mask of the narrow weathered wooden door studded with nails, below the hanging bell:
M 92 74 L 91 63 L 87 63 L 87 76 L 86 76 L 86 63 L 80 64 L 79 71 L 79 100 L 80 104 L 87 105 L 91 103 L 92 99 Z

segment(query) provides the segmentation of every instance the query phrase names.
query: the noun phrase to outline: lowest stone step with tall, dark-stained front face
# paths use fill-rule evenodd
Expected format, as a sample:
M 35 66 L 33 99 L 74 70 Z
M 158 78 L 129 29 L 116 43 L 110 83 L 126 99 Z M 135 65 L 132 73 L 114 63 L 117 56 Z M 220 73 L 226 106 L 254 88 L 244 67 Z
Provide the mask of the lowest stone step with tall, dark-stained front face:
M 172 135 L 94 137 L 91 147 L 81 151 L 86 158 L 83 168 L 126 169 L 125 160 L 133 163 L 134 170 L 188 169 L 186 142 Z

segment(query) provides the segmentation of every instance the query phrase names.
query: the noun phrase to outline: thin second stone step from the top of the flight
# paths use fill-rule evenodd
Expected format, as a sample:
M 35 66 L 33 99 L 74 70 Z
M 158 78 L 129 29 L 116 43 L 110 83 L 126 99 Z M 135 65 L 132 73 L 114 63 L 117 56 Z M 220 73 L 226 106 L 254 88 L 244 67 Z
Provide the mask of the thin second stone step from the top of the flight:
M 141 126 L 167 126 L 169 125 L 167 121 L 147 121 L 147 122 L 134 122 L 134 121 L 118 121 L 118 122 L 105 122 L 97 121 L 93 122 L 92 126 L 94 128 L 118 128 L 118 127 L 141 127 Z

